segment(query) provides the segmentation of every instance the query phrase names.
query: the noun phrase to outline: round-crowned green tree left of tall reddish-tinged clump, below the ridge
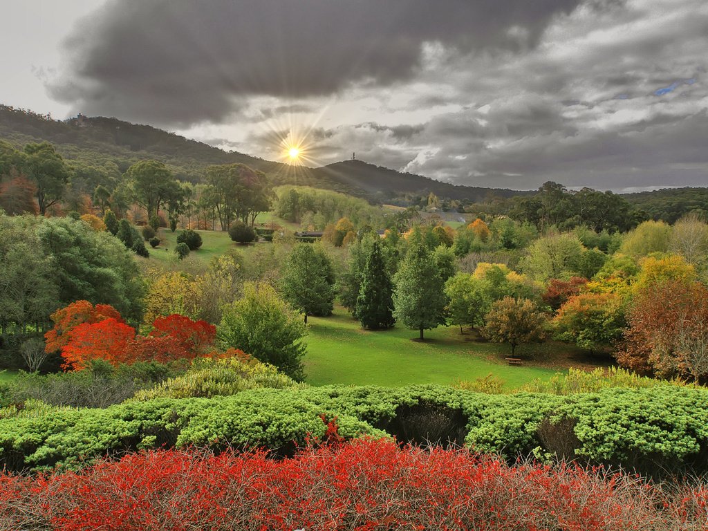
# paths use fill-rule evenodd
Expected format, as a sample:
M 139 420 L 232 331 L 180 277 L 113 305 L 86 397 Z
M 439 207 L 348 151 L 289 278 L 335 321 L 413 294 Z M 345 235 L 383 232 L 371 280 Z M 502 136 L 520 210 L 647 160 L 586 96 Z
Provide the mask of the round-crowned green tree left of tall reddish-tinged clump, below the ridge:
M 136 162 L 127 169 L 125 178 L 130 183 L 132 200 L 146 210 L 148 219 L 180 192 L 172 172 L 158 161 Z

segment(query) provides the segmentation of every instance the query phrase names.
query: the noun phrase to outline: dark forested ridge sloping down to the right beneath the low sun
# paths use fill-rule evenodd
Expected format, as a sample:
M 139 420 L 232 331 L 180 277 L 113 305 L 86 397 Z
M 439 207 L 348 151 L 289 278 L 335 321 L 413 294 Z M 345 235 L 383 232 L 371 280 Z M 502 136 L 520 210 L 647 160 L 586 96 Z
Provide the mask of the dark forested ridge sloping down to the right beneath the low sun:
M 321 168 L 292 166 L 266 161 L 238 152 L 225 152 L 149 125 L 137 125 L 115 118 L 80 117 L 53 120 L 29 110 L 0 105 L 0 138 L 17 147 L 46 140 L 69 161 L 89 166 L 106 162 L 125 171 L 135 161 L 156 159 L 169 165 L 182 181 L 198 183 L 212 164 L 242 163 L 265 172 L 274 184 L 310 185 L 329 188 L 372 200 L 388 200 L 405 193 L 440 198 L 483 200 L 493 194 L 508 198 L 513 190 L 455 186 L 433 179 L 399 173 L 362 161 L 344 161 Z

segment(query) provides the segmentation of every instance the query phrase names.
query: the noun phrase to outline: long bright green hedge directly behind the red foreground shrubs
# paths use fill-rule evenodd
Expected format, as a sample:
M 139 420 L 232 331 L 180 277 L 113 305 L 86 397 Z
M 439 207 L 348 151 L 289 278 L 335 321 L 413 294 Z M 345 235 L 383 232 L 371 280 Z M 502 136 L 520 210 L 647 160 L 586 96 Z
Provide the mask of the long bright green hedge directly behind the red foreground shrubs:
M 346 438 L 388 430 L 421 442 L 426 422 L 462 418 L 457 428 L 464 428 L 467 445 L 510 459 L 559 455 L 649 474 L 708 468 L 708 392 L 670 386 L 571 396 L 437 386 L 251 389 L 211 399 L 32 413 L 0 418 L 0 467 L 76 466 L 110 452 L 162 445 L 265 446 L 287 453 L 293 441 L 302 445 L 308 434 L 324 434 L 324 413 L 337 416 Z

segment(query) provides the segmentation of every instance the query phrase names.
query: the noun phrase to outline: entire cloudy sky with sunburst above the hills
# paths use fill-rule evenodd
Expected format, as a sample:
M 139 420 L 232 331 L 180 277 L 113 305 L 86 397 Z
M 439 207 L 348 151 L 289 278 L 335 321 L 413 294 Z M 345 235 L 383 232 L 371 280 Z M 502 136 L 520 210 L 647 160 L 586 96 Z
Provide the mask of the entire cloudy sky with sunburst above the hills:
M 456 184 L 708 185 L 706 0 L 23 0 L 0 103 Z

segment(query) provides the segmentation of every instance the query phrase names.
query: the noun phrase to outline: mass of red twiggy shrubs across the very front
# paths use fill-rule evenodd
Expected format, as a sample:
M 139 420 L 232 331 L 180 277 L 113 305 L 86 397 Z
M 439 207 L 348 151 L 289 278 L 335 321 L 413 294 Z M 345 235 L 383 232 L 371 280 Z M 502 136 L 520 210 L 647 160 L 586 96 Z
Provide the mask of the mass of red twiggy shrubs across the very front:
M 79 473 L 0 476 L 0 528 L 697 531 L 707 495 L 598 469 L 355 440 L 283 460 L 169 450 Z

